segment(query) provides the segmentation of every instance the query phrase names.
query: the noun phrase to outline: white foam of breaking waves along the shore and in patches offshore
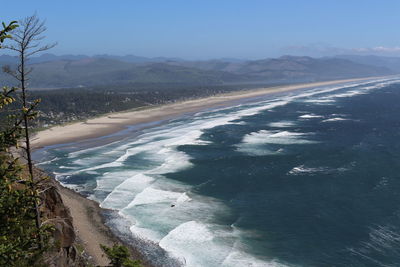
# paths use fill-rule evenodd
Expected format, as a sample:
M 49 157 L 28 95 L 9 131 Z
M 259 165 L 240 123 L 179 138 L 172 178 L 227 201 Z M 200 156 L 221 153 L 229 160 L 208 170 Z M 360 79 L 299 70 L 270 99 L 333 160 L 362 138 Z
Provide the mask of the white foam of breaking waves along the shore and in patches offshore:
M 246 124 L 247 117 L 272 111 L 292 101 L 306 100 L 310 105 L 317 102 L 307 98 L 316 97 L 319 103 L 334 103 L 337 98 L 352 97 L 363 93 L 362 90 L 372 90 L 387 84 L 385 81 L 375 82 L 379 84 L 371 85 L 369 82 L 316 88 L 280 97 L 278 100 L 225 108 L 176 120 L 167 126 L 144 131 L 124 142 L 70 153 L 70 167 L 75 169 L 68 175 L 106 171 L 96 179 L 95 191 L 110 191 L 101 206 L 118 210 L 121 216 L 132 222 L 130 230 L 135 236 L 159 242 L 161 247 L 180 258 L 187 266 L 281 266 L 273 260 L 258 259 L 246 253 L 238 245 L 240 233 L 234 234 L 229 227 L 227 229 L 216 225 L 217 216 L 231 212 L 224 203 L 200 196 L 189 185 L 167 178 L 169 173 L 193 166 L 191 157 L 179 147 L 208 145 L 210 141 L 202 140 L 205 130 L 225 124 L 238 124 L 238 121 Z M 346 88 L 351 88 L 351 91 L 341 91 Z M 299 118 L 324 117 L 309 113 Z M 335 118 L 339 117 L 328 117 L 328 120 Z M 272 122 L 268 126 L 274 129 L 257 129 L 244 134 L 236 149 L 251 155 L 280 155 L 285 153 L 289 145 L 316 143 L 312 140 L 313 133 L 276 129 L 296 124 L 284 120 Z M 301 165 L 294 167 L 289 174 L 323 171 L 326 169 Z

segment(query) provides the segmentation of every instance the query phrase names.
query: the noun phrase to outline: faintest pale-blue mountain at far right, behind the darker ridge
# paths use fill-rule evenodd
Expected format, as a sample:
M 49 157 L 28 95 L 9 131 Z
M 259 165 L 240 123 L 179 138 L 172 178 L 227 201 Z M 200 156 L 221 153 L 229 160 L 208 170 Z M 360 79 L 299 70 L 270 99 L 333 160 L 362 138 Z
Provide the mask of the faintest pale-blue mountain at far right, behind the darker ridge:
M 383 57 L 375 55 L 366 55 L 366 56 L 337 55 L 335 57 L 341 59 L 348 59 L 353 62 L 370 66 L 386 67 L 393 70 L 396 73 L 400 73 L 400 57 Z

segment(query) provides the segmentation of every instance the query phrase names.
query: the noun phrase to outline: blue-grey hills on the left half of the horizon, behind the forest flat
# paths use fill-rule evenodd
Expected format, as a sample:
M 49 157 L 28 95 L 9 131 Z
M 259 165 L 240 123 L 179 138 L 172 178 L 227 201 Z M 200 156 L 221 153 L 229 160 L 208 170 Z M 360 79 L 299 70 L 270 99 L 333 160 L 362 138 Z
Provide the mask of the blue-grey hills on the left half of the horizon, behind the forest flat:
M 138 65 L 114 59 L 85 58 L 82 60 L 49 61 L 31 65 L 34 70 L 31 87 L 60 88 L 115 85 L 127 83 L 188 83 L 221 84 L 225 80 L 239 81 L 243 77 L 232 73 L 171 66 L 165 63 Z M 2 84 L 13 84 L 5 73 Z

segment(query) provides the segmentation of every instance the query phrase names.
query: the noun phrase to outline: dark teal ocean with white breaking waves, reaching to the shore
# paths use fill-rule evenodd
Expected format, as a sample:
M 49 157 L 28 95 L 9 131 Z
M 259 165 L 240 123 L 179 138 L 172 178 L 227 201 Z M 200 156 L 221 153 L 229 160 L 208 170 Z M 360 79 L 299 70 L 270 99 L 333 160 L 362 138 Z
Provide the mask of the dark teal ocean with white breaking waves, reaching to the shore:
M 113 210 L 107 224 L 161 266 L 400 266 L 399 114 L 400 79 L 379 79 L 186 114 L 34 158 Z

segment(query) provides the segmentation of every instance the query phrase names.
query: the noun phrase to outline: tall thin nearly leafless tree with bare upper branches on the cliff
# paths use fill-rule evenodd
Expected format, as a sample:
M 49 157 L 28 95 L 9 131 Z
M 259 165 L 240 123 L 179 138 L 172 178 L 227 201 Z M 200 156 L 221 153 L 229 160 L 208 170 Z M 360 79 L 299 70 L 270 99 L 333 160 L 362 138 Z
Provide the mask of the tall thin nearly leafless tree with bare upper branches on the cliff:
M 13 76 L 19 83 L 21 89 L 21 102 L 23 110 L 23 125 L 24 125 L 24 137 L 25 137 L 25 152 L 28 164 L 28 171 L 32 186 L 35 185 L 33 162 L 31 156 L 31 145 L 30 145 L 30 131 L 29 121 L 34 117 L 32 113 L 34 107 L 38 104 L 38 100 L 33 102 L 28 101 L 27 98 L 27 86 L 29 76 L 33 70 L 32 67 L 28 66 L 29 58 L 39 52 L 43 52 L 53 48 L 56 43 L 42 45 L 41 41 L 45 38 L 43 33 L 46 31 L 45 22 L 41 21 L 36 14 L 26 17 L 18 22 L 19 27 L 12 31 L 11 45 L 4 45 L 3 48 L 17 52 L 19 61 L 16 70 L 12 70 L 10 67 L 5 67 L 4 71 Z M 36 209 L 36 226 L 38 230 L 41 227 L 40 222 L 40 211 L 35 201 Z M 41 239 L 41 235 L 40 239 Z M 43 246 L 42 239 L 40 240 L 41 246 Z

